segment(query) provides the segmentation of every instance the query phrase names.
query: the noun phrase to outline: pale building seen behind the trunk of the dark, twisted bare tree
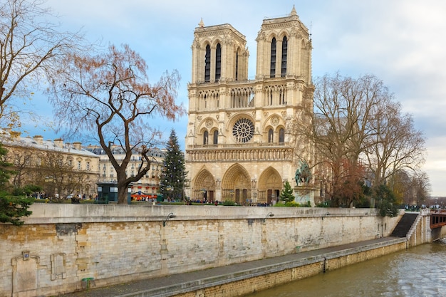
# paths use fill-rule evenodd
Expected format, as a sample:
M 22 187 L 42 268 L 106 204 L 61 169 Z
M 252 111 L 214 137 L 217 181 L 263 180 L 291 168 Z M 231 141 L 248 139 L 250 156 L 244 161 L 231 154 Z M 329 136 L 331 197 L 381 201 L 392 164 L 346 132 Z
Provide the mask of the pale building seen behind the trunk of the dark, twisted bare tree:
M 87 150 L 98 155 L 98 172 L 99 172 L 99 183 L 117 183 L 116 171 L 113 167 L 108 155 L 100 146 L 88 146 Z M 123 160 L 125 157 L 125 152 L 118 145 L 113 145 L 112 147 L 113 156 L 115 156 L 118 162 Z M 150 157 L 152 164 L 150 165 L 150 170 L 142 177 L 138 182 L 130 184 L 131 198 L 136 201 L 147 201 L 149 199 L 157 199 L 158 194 L 160 194 L 160 175 L 164 168 L 164 158 L 165 151 L 157 148 L 150 149 L 147 154 Z M 128 177 L 133 177 L 138 173 L 138 167 L 140 166 L 141 156 L 135 152 L 132 155 L 131 160 L 128 164 L 126 174 Z

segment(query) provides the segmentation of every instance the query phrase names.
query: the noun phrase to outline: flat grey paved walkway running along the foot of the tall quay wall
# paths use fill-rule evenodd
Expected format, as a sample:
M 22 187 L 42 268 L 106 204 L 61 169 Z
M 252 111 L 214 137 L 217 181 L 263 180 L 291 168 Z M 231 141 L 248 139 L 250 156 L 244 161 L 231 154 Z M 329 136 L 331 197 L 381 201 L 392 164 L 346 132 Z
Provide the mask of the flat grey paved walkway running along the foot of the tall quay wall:
M 383 244 L 388 241 L 403 240 L 397 237 L 383 237 L 368 241 L 356 242 L 353 244 L 344 244 L 342 246 L 333 246 L 326 249 L 316 249 L 313 251 L 304 251 L 297 254 L 286 256 L 277 256 L 274 258 L 249 261 L 245 263 L 232 264 L 202 271 L 192 271 L 187 273 L 175 274 L 172 276 L 163 276 L 160 278 L 150 278 L 141 281 L 133 281 L 105 288 L 90 288 L 88 291 L 69 293 L 61 297 L 131 297 L 131 296 L 173 296 L 177 293 L 184 293 L 199 288 L 215 286 L 227 283 L 229 279 L 243 279 L 248 275 L 256 276 L 265 273 L 265 271 L 279 271 L 289 266 L 292 262 L 305 261 L 308 258 L 338 253 L 348 252 L 350 249 L 358 249 L 370 245 Z

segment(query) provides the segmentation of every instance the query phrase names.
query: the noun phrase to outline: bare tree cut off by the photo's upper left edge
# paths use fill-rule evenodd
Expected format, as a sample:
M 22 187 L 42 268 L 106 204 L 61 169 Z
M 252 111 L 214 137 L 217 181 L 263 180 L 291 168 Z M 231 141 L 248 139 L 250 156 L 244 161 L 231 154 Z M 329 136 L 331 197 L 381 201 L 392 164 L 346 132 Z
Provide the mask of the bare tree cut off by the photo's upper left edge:
M 81 36 L 57 31 L 53 16 L 38 0 L 0 3 L 0 119 L 18 127 L 18 98 L 28 99 L 42 78 L 55 79 L 60 58 L 73 50 Z

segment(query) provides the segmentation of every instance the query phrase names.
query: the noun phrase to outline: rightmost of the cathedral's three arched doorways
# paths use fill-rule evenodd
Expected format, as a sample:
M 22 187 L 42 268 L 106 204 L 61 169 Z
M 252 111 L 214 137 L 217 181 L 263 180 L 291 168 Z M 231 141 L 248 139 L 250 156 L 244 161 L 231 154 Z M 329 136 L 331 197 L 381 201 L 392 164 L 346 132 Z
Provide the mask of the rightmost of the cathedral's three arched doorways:
M 279 172 L 273 167 L 266 168 L 259 178 L 257 202 L 270 204 L 274 200 L 277 200 L 282 187 L 282 179 Z

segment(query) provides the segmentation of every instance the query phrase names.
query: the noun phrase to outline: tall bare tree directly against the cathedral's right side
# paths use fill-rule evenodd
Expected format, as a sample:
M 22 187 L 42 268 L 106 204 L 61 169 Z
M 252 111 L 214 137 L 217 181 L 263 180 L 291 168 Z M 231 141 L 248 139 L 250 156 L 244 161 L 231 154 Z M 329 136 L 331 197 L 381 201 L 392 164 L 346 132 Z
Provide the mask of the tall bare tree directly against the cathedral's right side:
M 313 127 L 305 133 L 315 145 L 320 167 L 330 168 L 328 176 L 320 177 L 329 183 L 326 195 L 334 206 L 341 202 L 339 197 L 348 197 L 343 200 L 351 204 L 361 194 L 354 191 L 362 191 L 358 184 L 365 178 L 361 158 L 375 133 L 371 121 L 392 95 L 373 75 L 358 79 L 325 75 L 315 85 Z

